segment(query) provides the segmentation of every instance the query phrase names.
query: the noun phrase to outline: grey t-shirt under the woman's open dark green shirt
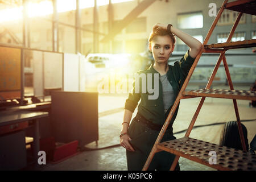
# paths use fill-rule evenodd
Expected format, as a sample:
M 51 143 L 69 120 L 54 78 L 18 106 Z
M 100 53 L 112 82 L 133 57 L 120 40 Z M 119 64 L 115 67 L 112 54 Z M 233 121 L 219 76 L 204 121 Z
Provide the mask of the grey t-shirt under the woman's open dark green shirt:
M 167 74 L 160 76 L 160 81 L 163 87 L 164 113 L 166 113 L 169 107 L 174 104 L 174 89 L 172 89 L 172 85 L 168 81 Z

